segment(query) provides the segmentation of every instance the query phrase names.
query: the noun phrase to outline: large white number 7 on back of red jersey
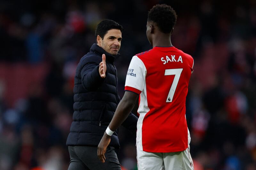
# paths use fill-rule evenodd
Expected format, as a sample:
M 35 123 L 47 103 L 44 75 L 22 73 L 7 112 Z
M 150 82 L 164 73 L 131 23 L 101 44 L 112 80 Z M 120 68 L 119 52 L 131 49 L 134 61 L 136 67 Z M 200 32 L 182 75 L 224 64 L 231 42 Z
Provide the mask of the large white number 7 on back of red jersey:
M 172 86 L 171 89 L 169 91 L 169 94 L 167 96 L 166 102 L 172 102 L 173 99 L 173 95 L 175 93 L 176 87 L 178 85 L 179 79 L 180 79 L 180 74 L 182 72 L 183 69 L 166 69 L 164 76 L 169 76 L 169 75 L 175 75 L 173 82 L 172 82 Z

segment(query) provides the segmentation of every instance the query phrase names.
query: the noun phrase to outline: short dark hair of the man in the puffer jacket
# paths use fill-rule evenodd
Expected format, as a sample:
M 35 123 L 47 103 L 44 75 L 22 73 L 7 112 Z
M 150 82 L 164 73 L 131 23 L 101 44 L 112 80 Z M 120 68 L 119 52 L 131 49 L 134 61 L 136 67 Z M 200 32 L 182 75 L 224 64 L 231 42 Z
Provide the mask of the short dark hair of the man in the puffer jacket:
M 123 32 L 123 26 L 121 26 L 117 22 L 115 22 L 111 19 L 105 19 L 105 20 L 101 21 L 97 25 L 96 30 L 95 30 L 96 41 L 97 41 L 98 35 L 100 35 L 100 37 L 103 39 L 104 36 L 106 35 L 106 33 L 108 32 L 108 30 L 111 30 L 111 29 L 118 29 L 121 31 L 121 33 Z

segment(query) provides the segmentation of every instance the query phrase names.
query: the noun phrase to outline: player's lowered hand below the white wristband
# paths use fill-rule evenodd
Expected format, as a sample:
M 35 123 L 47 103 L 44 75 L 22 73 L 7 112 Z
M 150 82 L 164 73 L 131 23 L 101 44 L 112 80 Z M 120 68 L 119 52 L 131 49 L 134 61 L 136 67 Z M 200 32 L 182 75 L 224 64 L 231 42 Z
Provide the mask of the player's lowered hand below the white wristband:
M 103 54 L 104 55 L 104 54 Z M 103 137 L 100 140 L 100 143 L 98 145 L 98 157 L 100 159 L 101 162 L 105 162 L 106 158 L 105 158 L 105 153 L 107 150 L 107 147 L 110 143 L 110 137 L 106 132 L 104 133 Z

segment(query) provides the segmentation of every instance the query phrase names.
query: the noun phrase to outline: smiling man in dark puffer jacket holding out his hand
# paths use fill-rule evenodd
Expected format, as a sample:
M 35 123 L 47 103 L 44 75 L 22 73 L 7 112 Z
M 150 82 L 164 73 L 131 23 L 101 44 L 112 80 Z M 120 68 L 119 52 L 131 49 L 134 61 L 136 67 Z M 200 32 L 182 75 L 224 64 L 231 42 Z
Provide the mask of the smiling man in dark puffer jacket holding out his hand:
M 121 170 L 114 151 L 120 147 L 117 131 L 111 137 L 105 164 L 97 157 L 97 146 L 120 101 L 114 60 L 119 55 L 122 31 L 123 27 L 115 21 L 101 21 L 95 31 L 97 44 L 77 65 L 73 122 L 67 139 L 68 170 Z M 130 113 L 123 125 L 135 133 L 137 120 Z

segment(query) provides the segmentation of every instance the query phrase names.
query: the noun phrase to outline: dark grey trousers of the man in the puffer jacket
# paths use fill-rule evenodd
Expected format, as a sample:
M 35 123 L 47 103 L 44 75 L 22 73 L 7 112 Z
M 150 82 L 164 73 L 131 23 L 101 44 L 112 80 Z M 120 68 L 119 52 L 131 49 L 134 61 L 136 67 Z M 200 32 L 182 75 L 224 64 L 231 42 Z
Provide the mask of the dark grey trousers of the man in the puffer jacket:
M 68 170 L 121 170 L 114 147 L 107 147 L 105 163 L 97 156 L 96 146 L 68 146 Z

